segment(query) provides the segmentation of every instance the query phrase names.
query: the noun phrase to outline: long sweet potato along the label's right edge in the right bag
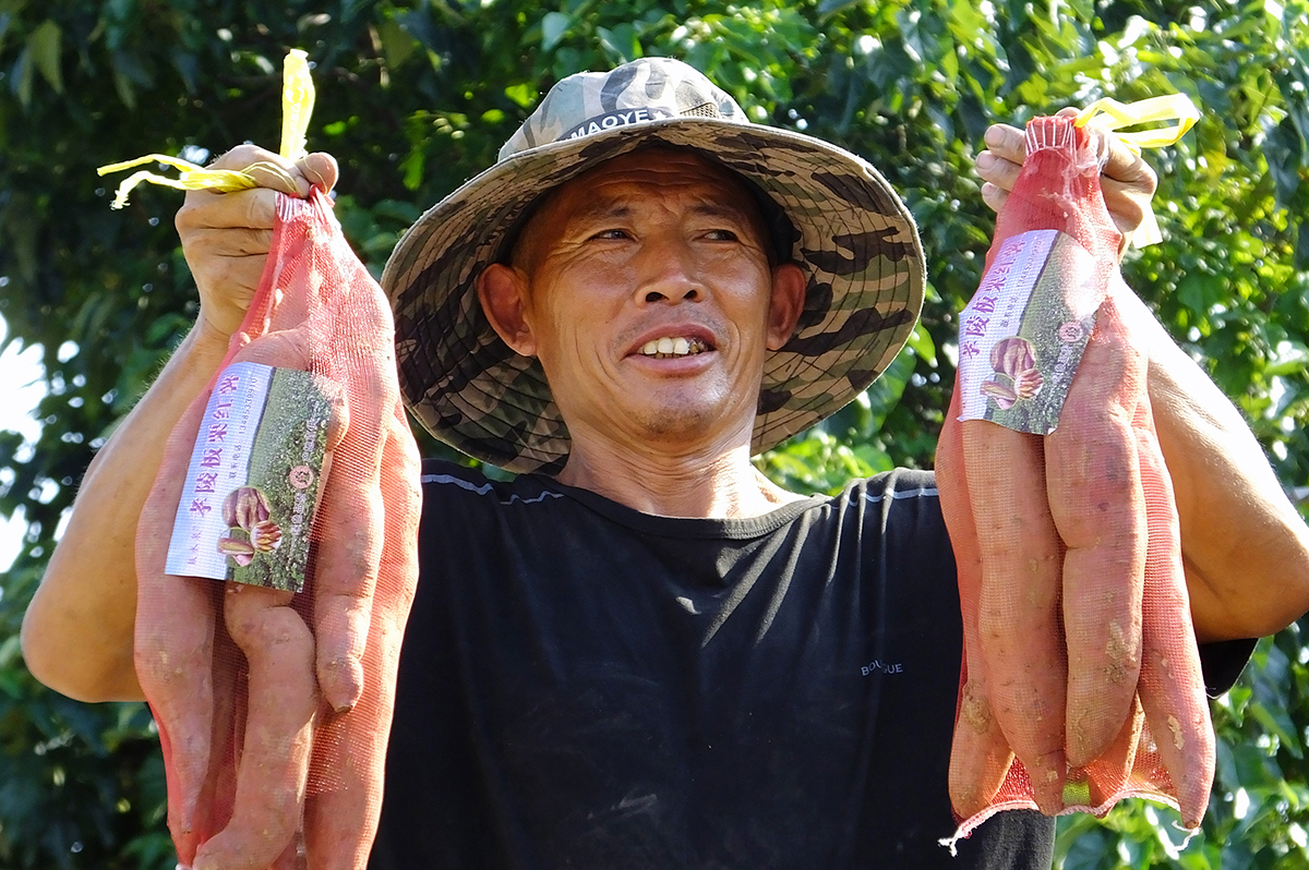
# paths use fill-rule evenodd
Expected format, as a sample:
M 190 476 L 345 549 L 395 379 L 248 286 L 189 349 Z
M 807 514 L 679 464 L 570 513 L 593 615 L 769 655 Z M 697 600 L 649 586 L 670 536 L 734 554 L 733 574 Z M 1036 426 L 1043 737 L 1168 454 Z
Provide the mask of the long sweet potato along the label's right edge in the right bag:
M 1105 300 L 1059 428 L 1045 438 L 1050 512 L 1067 548 L 1066 739 L 1073 767 L 1114 740 L 1136 695 L 1147 529 L 1132 416 L 1144 391 L 1144 356 Z

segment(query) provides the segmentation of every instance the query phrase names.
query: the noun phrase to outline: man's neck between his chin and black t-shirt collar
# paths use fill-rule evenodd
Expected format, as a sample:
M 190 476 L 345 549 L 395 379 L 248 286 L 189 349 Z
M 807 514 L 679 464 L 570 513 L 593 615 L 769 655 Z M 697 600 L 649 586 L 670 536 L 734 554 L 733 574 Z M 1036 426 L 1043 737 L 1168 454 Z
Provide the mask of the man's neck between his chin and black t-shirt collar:
M 637 453 L 573 441 L 559 481 L 664 517 L 744 518 L 802 498 L 759 474 L 747 444 L 726 450 Z

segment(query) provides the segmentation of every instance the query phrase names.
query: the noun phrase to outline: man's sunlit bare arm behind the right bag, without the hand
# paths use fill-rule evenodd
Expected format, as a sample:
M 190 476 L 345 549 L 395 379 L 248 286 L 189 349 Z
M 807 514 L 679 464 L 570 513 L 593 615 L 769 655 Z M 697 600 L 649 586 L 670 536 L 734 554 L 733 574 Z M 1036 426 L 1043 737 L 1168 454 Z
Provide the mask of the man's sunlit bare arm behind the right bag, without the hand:
M 1309 610 L 1309 530 L 1236 406 L 1134 293 L 1121 296 L 1134 334 L 1147 340 L 1196 635 L 1276 632 Z

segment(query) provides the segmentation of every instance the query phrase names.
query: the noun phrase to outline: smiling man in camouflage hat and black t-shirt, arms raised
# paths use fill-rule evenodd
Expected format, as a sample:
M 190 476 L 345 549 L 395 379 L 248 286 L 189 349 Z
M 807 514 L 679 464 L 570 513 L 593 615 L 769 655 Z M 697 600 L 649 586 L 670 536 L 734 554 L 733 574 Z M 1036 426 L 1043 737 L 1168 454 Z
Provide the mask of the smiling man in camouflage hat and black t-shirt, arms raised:
M 1021 137 L 990 136 L 994 201 Z M 322 157 L 288 169 L 335 179 Z M 1135 225 L 1152 177 L 1124 152 L 1107 173 Z M 268 196 L 192 194 L 178 215 L 199 321 L 88 471 L 25 623 L 60 691 L 140 696 L 134 578 L 114 566 L 258 281 Z M 749 462 L 885 368 L 922 263 L 865 162 L 747 124 L 662 59 L 556 85 L 415 225 L 384 276 L 407 404 L 530 474 L 425 470 L 373 866 L 1049 866 L 1052 823 L 1030 812 L 958 860 L 937 845 L 961 629 L 931 474 L 805 498 Z M 1238 638 L 1309 608 L 1309 535 L 1230 403 L 1131 311 L 1225 686 Z

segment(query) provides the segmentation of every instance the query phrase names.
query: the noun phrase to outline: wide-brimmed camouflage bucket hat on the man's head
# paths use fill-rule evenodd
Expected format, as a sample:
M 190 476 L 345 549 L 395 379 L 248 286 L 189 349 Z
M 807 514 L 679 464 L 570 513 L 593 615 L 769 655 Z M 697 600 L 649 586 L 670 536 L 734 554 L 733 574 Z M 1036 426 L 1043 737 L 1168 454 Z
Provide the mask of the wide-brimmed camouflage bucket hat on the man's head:
M 647 58 L 551 88 L 495 166 L 431 208 L 382 273 L 395 310 L 401 391 L 446 444 L 511 471 L 554 472 L 568 429 L 535 358 L 505 345 L 476 279 L 505 254 L 542 195 L 645 144 L 689 148 L 766 194 L 793 226 L 806 276 L 791 340 L 764 362 L 751 451 L 838 411 L 890 364 L 923 304 L 914 218 L 863 158 L 812 136 L 753 124 L 696 69 Z

